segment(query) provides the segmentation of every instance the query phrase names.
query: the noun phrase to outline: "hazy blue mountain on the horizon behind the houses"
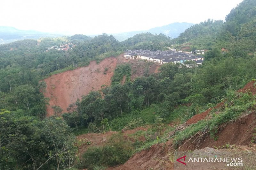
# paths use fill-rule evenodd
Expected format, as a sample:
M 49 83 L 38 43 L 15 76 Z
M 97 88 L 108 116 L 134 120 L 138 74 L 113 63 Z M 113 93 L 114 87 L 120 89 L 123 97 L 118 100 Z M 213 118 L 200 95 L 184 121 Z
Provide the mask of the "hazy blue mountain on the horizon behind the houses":
M 112 35 L 119 41 L 124 41 L 128 38 L 133 37 L 136 34 L 145 33 L 145 32 L 154 33 L 154 34 L 162 33 L 168 37 L 176 38 L 177 36 L 180 35 L 180 33 L 184 32 L 187 28 L 189 28 L 192 25 L 194 25 L 194 24 L 187 23 L 187 22 L 181 22 L 181 23 L 176 22 L 176 23 L 172 23 L 172 24 L 169 24 L 166 26 L 158 26 L 155 28 L 151 28 L 149 30 L 132 31 L 132 32 L 126 32 L 126 33 L 114 33 Z

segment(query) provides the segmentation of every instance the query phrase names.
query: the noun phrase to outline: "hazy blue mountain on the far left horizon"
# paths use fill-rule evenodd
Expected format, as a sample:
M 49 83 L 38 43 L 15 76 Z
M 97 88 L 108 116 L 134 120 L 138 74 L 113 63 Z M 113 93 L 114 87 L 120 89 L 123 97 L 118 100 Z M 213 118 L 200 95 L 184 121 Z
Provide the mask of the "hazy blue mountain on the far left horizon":
M 41 37 L 59 37 L 60 35 L 43 33 L 34 30 L 19 30 L 11 26 L 0 26 L 0 44 L 17 40 L 39 39 Z

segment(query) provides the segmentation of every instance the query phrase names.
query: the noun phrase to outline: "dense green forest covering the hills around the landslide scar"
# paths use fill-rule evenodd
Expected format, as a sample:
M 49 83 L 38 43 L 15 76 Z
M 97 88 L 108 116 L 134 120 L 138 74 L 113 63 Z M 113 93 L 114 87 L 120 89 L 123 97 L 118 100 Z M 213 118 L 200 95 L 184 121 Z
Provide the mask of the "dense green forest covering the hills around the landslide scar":
M 112 35 L 103 33 L 94 38 L 74 35 L 1 45 L 0 169 L 73 167 L 79 162 L 75 134 L 119 131 L 145 124 L 156 124 L 159 132 L 157 128 L 163 122 L 170 122 L 180 114 L 184 122 L 228 98 L 231 91 L 255 78 L 255 3 L 244 0 L 226 16 L 226 22 L 208 19 L 191 26 L 173 40 L 162 34 L 141 33 L 118 42 Z M 68 51 L 48 49 L 71 42 L 76 46 Z M 69 113 L 64 113 L 62 118 L 45 117 L 48 99 L 42 91 L 46 84 L 39 80 L 85 66 L 91 60 L 119 55 L 127 49 L 164 50 L 171 44 L 182 43 L 191 43 L 191 49 L 209 49 L 204 63 L 191 68 L 180 63 L 166 63 L 161 66 L 160 73 L 145 74 L 133 81 L 129 79 L 131 66 L 119 65 L 110 86 L 70 103 Z M 225 54 L 221 53 L 221 48 L 227 49 Z M 126 82 L 122 85 L 124 75 Z M 191 105 L 182 106 L 186 103 Z M 148 117 L 149 111 L 155 112 L 154 117 Z M 107 166 L 121 164 L 143 145 L 128 145 L 122 137 L 116 138 L 120 140 L 113 138 L 113 145 L 86 152 L 84 162 L 75 167 L 93 169 L 104 161 Z M 149 139 L 147 145 L 154 140 Z M 175 140 L 181 141 L 180 138 Z M 115 159 L 106 160 L 112 153 L 119 152 Z M 101 157 L 88 159 L 95 155 Z

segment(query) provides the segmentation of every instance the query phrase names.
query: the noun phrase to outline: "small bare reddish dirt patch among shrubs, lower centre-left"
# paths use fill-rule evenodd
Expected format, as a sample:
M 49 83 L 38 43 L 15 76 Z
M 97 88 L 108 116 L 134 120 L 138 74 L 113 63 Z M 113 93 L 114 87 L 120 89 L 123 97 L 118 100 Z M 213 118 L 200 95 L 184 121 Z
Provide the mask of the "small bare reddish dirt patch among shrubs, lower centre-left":
M 78 143 L 81 143 L 81 145 L 78 146 L 78 152 L 81 156 L 89 146 L 100 146 L 107 142 L 107 140 L 117 132 L 106 132 L 104 134 L 102 133 L 87 133 L 83 135 L 77 136 Z

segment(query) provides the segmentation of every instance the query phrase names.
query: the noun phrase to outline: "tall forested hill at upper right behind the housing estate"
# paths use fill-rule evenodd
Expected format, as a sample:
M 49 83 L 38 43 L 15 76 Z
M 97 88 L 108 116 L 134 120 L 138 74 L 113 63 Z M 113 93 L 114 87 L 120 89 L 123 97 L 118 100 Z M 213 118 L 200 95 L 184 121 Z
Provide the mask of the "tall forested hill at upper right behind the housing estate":
M 230 11 L 225 22 L 208 19 L 191 26 L 172 42 L 188 51 L 225 48 L 237 56 L 252 53 L 256 50 L 255 5 L 254 0 L 244 0 Z

